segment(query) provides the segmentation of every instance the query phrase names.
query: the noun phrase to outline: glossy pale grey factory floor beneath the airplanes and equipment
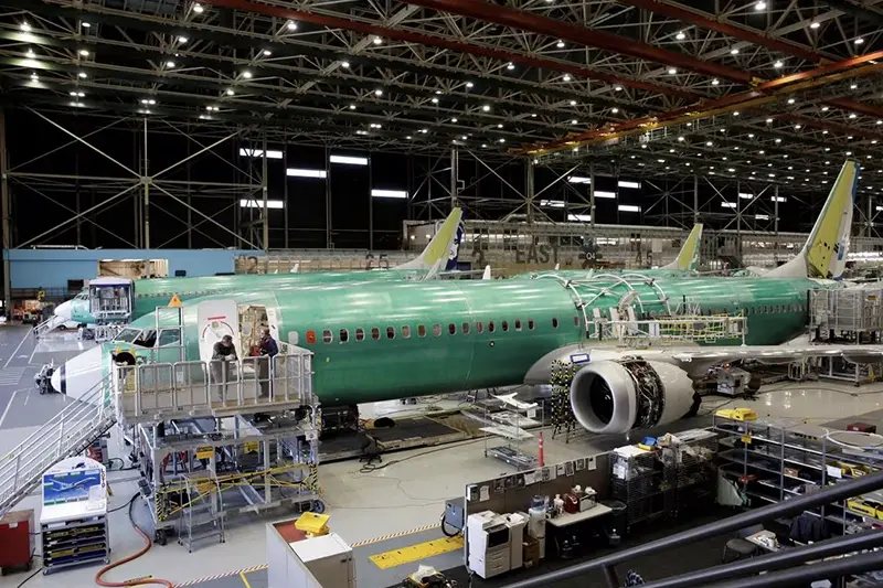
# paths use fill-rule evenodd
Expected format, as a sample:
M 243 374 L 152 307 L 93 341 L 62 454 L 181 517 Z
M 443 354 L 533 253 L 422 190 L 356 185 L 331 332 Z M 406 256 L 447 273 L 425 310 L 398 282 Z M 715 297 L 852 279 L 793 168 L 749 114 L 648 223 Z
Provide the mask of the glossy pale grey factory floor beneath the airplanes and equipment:
M 40 364 L 49 362 L 50 359 L 54 359 L 58 364 L 78 353 L 79 345 L 85 344 L 76 342 L 74 334 L 47 336 L 35 343 L 33 336 L 29 334 L 29 329 L 14 325 L 0 327 L 0 455 L 21 442 L 36 426 L 46 421 L 63 406 L 64 397 L 40 396 L 36 393 L 33 374 Z M 760 416 L 827 423 L 879 410 L 883 408 L 882 402 L 883 384 L 870 384 L 857 388 L 849 383 L 822 381 L 807 384 L 774 384 L 764 389 L 757 402 L 740 400 L 738 406 L 749 405 Z M 365 407 L 365 414 L 380 416 L 396 413 L 398 416 L 398 410 L 421 411 L 429 406 L 456 404 L 435 402 L 435 399 L 412 407 L 398 403 L 384 403 Z M 677 427 L 668 428 L 675 430 L 703 426 L 709 423 L 708 415 L 723 404 L 730 403 L 725 398 L 708 402 L 701 410 L 704 417 L 680 421 Z M 552 439 L 549 430 L 544 437 L 547 463 L 597 453 L 636 440 L 626 436 L 598 437 L 578 434 L 570 443 L 565 443 L 562 439 Z M 109 447 L 111 456 L 121 455 L 116 439 L 111 439 Z M 524 449 L 535 453 L 535 447 L 531 445 L 525 443 Z M 138 474 L 136 471 L 117 471 L 117 463 L 115 462 L 115 469 L 108 472 L 108 481 L 114 492 L 110 509 L 119 509 L 109 515 L 114 560 L 121 559 L 143 546 L 142 539 L 129 523 L 126 507 L 129 499 L 137 492 Z M 444 501 L 461 496 L 467 483 L 513 471 L 511 467 L 485 457 L 483 439 L 387 455 L 384 456 L 383 468 L 373 471 L 364 469 L 363 466 L 349 460 L 326 463 L 320 468 L 320 484 L 325 489 L 327 513 L 331 516 L 330 527 L 350 544 L 368 542 L 376 544 L 373 539 L 381 536 L 404 534 L 415 528 L 436 525 L 444 509 Z M 35 491 L 17 509 L 39 509 L 39 503 Z M 139 524 L 147 525 L 149 514 L 140 505 L 134 509 L 134 515 Z M 276 520 L 289 516 L 281 514 Z M 39 511 L 36 517 L 39 518 Z M 259 568 L 266 562 L 264 528 L 266 522 L 267 518 L 244 518 L 234 522 L 227 528 L 225 543 L 206 542 L 192 554 L 188 554 L 184 547 L 173 541 L 166 546 L 153 546 L 146 556 L 113 570 L 108 578 L 119 581 L 152 575 L 169 579 L 175 585 L 193 585 L 203 578 L 223 576 L 225 584 L 204 584 L 203 588 L 240 586 L 260 588 L 265 585 L 259 582 L 260 570 L 255 568 Z M 415 543 L 425 541 L 421 537 L 423 535 L 412 539 Z M 715 550 L 716 547 L 709 548 L 710 553 Z M 38 574 L 24 585 L 24 588 L 94 586 L 94 576 L 98 569 L 98 566 L 95 566 L 64 570 L 49 576 Z M 415 569 L 416 564 L 403 565 L 396 575 L 404 578 Z M 662 570 L 660 575 L 666 575 L 669 568 L 663 567 Z M 641 571 L 643 573 L 643 567 Z M 26 577 L 28 575 L 22 573 L 0 577 L 0 588 L 17 588 Z M 382 578 L 379 576 L 376 581 L 386 581 L 389 577 L 384 574 Z M 647 570 L 645 577 L 656 577 L 656 574 Z M 252 579 L 255 580 L 254 584 Z M 370 581 L 365 576 L 364 582 L 359 582 L 359 588 L 387 586 L 387 584 L 372 585 Z

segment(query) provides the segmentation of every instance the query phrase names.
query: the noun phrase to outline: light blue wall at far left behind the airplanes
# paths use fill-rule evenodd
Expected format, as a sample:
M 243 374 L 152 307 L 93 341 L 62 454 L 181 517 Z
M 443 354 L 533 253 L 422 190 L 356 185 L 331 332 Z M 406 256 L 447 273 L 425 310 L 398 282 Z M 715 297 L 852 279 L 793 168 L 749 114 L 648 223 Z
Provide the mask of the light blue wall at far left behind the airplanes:
M 168 259 L 169 276 L 214 276 L 234 271 L 242 255 L 264 255 L 252 249 L 6 249 L 12 288 L 67 288 L 67 280 L 98 277 L 102 259 Z

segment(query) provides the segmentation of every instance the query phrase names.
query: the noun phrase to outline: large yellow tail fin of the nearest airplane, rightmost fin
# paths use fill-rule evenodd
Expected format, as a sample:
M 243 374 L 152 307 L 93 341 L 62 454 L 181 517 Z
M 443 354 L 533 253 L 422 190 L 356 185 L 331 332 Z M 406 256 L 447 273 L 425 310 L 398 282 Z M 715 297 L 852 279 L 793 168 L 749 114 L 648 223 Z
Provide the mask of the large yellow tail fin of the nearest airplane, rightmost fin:
M 852 209 L 859 186 L 859 163 L 848 159 L 837 177 L 816 226 L 800 253 L 785 265 L 767 271 L 768 278 L 828 278 L 843 274 L 849 252 Z

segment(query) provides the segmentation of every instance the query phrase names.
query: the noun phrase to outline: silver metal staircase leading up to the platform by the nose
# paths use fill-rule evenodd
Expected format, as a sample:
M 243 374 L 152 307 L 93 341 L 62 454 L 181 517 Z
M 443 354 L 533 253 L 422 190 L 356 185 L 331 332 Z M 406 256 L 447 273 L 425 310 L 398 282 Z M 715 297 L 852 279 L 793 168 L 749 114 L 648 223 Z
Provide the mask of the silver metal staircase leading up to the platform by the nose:
M 0 458 L 0 516 L 36 487 L 58 461 L 82 455 L 117 421 L 109 376 L 73 400 L 18 447 Z

